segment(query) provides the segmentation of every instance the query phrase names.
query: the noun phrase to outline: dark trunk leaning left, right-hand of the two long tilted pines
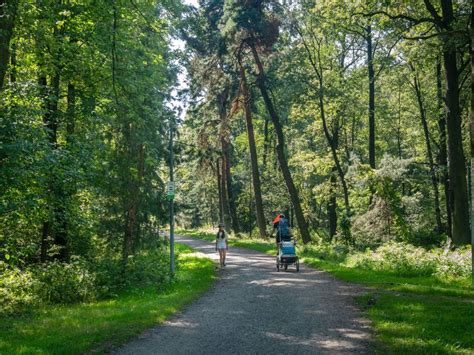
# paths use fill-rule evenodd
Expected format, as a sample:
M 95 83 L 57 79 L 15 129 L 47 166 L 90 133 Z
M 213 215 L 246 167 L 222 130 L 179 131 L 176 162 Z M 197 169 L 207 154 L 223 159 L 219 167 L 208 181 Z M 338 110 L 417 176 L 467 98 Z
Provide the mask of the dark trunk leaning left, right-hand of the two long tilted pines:
M 280 163 L 281 172 L 283 174 L 283 178 L 285 180 L 286 187 L 290 195 L 291 203 L 295 210 L 296 220 L 298 222 L 298 227 L 301 232 L 301 237 L 304 243 L 308 243 L 311 241 L 311 236 L 309 234 L 308 224 L 303 214 L 303 209 L 301 208 L 301 202 L 300 202 L 300 197 L 298 195 L 298 190 L 296 189 L 296 186 L 293 182 L 293 178 L 291 176 L 291 172 L 288 167 L 288 162 L 286 160 L 285 137 L 283 135 L 283 128 L 280 123 L 280 118 L 273 106 L 273 102 L 270 99 L 270 96 L 267 91 L 266 82 L 265 82 L 266 81 L 265 71 L 263 70 L 263 65 L 262 65 L 262 62 L 260 61 L 260 57 L 255 47 L 255 43 L 250 44 L 250 49 L 252 50 L 252 54 L 258 68 L 257 85 L 260 89 L 260 92 L 263 97 L 263 101 L 265 102 L 265 106 L 267 108 L 268 114 L 270 115 L 270 118 L 272 119 L 273 127 L 275 128 L 275 132 L 277 135 L 278 142 L 276 146 L 276 151 L 277 151 L 278 161 Z

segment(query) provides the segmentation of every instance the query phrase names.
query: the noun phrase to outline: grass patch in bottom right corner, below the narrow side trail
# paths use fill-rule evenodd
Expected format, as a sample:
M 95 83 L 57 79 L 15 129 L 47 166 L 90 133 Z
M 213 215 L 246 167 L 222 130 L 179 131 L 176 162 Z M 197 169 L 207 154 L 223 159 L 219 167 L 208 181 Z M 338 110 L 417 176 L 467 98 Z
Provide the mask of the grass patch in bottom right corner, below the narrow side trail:
M 361 296 L 368 307 L 380 352 L 473 353 L 474 304 L 458 299 L 383 294 Z

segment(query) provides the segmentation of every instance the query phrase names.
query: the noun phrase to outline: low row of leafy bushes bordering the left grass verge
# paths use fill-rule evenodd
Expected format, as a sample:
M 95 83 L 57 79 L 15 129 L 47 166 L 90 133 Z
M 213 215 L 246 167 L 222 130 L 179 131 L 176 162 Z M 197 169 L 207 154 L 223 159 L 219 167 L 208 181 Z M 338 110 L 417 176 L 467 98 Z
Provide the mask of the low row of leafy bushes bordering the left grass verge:
M 42 304 L 89 302 L 115 297 L 120 290 L 170 281 L 168 255 L 163 248 L 130 256 L 124 269 L 119 257 L 88 262 L 50 261 L 24 270 L 0 262 L 0 314 L 13 314 Z

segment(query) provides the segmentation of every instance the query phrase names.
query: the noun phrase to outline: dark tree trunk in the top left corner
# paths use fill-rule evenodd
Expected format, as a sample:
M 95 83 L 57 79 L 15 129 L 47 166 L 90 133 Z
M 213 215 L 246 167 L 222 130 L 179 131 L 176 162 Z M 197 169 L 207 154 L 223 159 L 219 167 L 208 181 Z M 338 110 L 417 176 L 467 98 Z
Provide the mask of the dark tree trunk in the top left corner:
M 10 62 L 10 41 L 18 8 L 18 0 L 0 0 L 0 91 Z

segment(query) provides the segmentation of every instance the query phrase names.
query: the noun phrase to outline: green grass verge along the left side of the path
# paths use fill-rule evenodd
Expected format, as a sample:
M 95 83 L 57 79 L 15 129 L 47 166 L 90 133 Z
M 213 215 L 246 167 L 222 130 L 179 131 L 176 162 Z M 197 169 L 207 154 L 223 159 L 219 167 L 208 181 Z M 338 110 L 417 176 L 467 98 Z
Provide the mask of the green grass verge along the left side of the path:
M 159 291 L 156 287 L 132 289 L 114 300 L 49 307 L 0 319 L 0 354 L 104 353 L 124 344 L 212 285 L 213 262 L 187 255 L 192 251 L 177 245 L 175 281 Z

